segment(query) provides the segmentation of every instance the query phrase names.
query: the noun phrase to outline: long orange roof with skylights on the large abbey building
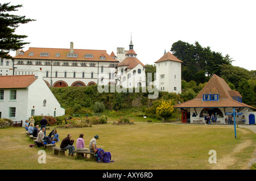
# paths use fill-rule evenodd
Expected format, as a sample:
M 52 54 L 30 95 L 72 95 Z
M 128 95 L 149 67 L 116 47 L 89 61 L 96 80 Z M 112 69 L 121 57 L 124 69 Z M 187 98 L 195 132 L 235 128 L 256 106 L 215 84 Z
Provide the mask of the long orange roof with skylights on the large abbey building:
M 13 58 L 17 59 L 34 59 L 34 60 L 70 60 L 70 61 L 110 61 L 118 62 L 114 60 L 106 50 L 88 50 L 88 49 L 73 49 L 73 53 L 77 53 L 77 57 L 67 57 L 70 49 L 61 48 L 33 48 L 30 47 L 24 54 L 19 54 Z M 34 55 L 30 56 L 30 52 Z M 49 56 L 40 56 L 40 53 L 49 53 Z M 60 53 L 59 57 L 56 57 L 56 53 Z M 93 58 L 85 57 L 85 54 L 93 54 Z M 101 56 L 105 56 L 105 60 L 101 60 Z

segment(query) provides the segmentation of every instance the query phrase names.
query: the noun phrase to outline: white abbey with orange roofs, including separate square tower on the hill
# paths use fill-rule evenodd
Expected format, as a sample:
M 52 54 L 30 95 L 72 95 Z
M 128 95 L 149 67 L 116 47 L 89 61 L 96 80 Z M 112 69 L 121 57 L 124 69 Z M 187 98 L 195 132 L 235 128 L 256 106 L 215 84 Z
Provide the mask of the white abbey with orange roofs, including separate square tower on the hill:
M 43 72 L 48 87 L 122 85 L 145 87 L 146 66 L 138 60 L 132 41 L 129 50 L 117 48 L 110 55 L 106 50 L 32 48 L 16 51 L 13 60 L 1 58 L 0 75 L 31 75 Z M 155 62 L 159 91 L 181 93 L 181 62 L 167 52 Z M 157 84 L 158 84 L 157 83 Z

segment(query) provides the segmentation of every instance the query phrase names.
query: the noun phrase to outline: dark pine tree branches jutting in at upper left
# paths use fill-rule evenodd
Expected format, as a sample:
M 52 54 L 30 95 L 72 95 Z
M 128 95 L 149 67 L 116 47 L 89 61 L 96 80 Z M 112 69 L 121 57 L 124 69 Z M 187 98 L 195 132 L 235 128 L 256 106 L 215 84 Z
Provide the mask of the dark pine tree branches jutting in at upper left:
M 9 6 L 9 3 L 0 3 L 0 57 L 11 58 L 8 54 L 10 50 L 24 48 L 23 45 L 29 44 L 22 39 L 26 35 L 15 35 L 14 32 L 19 24 L 26 24 L 34 19 L 26 19 L 25 16 L 11 15 L 8 12 L 17 11 L 22 5 Z

